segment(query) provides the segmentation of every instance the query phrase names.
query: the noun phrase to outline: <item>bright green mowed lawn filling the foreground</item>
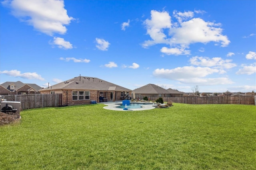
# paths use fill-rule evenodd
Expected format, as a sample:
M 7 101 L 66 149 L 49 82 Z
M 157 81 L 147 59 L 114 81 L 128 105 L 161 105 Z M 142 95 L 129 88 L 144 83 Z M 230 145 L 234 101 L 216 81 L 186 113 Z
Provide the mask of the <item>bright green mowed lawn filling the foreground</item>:
M 256 169 L 256 106 L 28 109 L 0 127 L 0 169 Z

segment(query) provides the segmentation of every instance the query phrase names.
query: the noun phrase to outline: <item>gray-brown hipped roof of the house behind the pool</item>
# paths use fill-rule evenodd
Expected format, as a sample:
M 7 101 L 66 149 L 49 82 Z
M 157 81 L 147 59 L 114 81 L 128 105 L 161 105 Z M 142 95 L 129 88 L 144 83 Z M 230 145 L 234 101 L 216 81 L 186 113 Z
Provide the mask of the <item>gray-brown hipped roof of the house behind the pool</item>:
M 170 94 L 168 90 L 156 86 L 155 84 L 147 84 L 140 88 L 136 88 L 135 90 L 133 90 L 133 92 L 135 94 Z

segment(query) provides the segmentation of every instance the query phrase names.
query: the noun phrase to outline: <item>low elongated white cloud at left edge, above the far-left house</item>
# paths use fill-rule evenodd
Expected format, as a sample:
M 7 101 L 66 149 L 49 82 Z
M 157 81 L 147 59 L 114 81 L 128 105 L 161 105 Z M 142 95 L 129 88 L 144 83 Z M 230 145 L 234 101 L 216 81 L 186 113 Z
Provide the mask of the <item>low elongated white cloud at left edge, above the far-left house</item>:
M 21 73 L 18 70 L 10 70 L 10 71 L 4 70 L 4 71 L 0 71 L 0 74 L 6 74 L 8 76 L 21 77 L 26 79 L 44 80 L 44 78 L 42 78 L 41 75 L 37 74 L 36 72 Z

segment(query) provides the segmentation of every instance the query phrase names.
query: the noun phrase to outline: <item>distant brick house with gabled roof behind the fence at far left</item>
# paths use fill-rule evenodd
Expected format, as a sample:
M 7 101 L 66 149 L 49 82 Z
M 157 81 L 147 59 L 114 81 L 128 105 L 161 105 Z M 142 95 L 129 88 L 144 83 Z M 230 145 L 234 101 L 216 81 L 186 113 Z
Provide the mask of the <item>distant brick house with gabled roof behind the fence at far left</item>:
M 20 81 L 0 84 L 0 95 L 37 94 L 42 87 L 36 84 L 26 84 Z

